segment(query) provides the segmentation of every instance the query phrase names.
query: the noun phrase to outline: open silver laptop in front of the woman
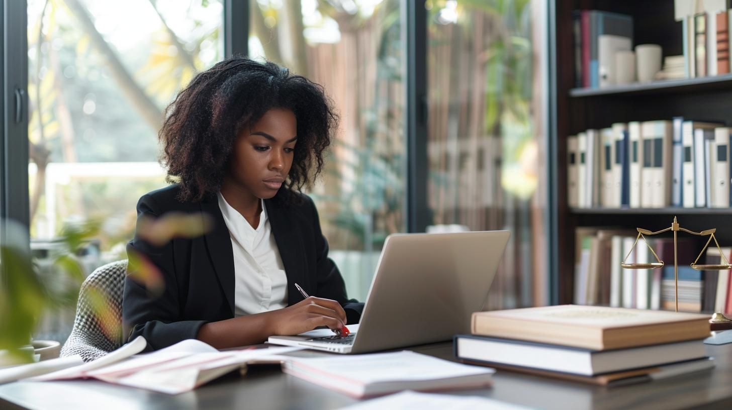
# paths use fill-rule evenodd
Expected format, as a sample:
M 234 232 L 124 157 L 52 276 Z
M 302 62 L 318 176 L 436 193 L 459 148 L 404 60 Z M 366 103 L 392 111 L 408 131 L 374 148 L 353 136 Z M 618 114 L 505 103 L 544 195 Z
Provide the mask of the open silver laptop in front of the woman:
M 485 305 L 509 231 L 392 234 L 386 237 L 360 324 L 267 342 L 335 353 L 366 353 L 452 339 L 470 332 Z

